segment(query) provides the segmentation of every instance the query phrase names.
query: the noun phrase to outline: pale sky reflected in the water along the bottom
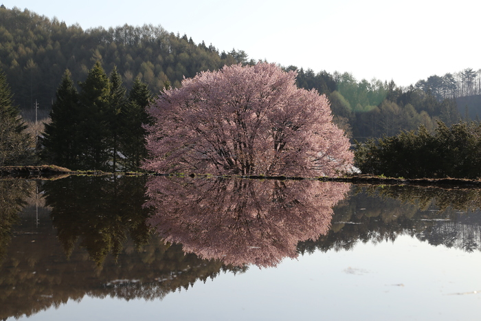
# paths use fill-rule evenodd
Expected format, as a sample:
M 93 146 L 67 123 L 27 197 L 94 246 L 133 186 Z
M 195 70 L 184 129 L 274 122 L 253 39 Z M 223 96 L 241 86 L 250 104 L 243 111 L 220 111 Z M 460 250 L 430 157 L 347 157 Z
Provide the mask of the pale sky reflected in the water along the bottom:
M 410 236 L 220 274 L 164 300 L 69 300 L 29 320 L 478 320 L 481 252 Z

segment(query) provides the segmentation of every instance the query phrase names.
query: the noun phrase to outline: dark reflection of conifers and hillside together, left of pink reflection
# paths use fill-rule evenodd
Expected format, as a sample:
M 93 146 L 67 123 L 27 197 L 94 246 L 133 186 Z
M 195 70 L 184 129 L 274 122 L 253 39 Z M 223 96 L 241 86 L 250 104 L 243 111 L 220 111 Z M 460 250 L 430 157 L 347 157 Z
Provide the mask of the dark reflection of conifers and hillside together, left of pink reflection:
M 148 209 L 142 208 L 145 178 L 67 177 L 43 182 L 49 208 L 32 194 L 34 181 L 11 180 L 22 188 L 0 188 L 0 197 L 10 200 L 0 203 L 0 209 L 8 205 L 8 217 L 14 219 L 14 237 L 0 261 L 0 320 L 31 316 L 84 296 L 163 298 L 223 271 L 243 272 L 185 254 L 181 245 L 152 236 L 145 223 Z M 118 239 L 120 246 L 111 242 Z

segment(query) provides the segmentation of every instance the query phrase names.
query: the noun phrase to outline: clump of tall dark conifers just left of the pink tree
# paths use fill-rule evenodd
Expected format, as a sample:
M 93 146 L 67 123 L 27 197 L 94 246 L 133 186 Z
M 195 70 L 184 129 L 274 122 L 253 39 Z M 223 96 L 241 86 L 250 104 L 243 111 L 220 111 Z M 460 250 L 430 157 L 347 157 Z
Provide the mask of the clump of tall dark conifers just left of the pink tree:
M 70 169 L 137 170 L 146 157 L 145 107 L 151 93 L 136 78 L 126 93 L 116 68 L 107 76 L 96 63 L 76 90 L 65 71 L 45 125 L 44 162 Z

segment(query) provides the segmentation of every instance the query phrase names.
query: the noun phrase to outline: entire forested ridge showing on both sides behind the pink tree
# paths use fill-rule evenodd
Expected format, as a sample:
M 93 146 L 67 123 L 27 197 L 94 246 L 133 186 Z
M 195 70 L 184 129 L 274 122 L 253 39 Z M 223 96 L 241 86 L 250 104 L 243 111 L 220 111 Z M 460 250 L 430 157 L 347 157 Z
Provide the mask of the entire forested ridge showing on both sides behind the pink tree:
M 0 8 L 0 67 L 25 118 L 34 119 L 36 101 L 39 115 L 47 117 L 65 69 L 78 87 L 97 62 L 107 74 L 116 67 L 126 89 L 139 78 L 154 94 L 166 84 L 179 87 L 184 76 L 199 71 L 256 63 L 242 50 L 219 52 L 212 44 L 194 43 L 160 26 L 82 30 L 29 10 Z M 393 80 L 359 81 L 348 73 L 284 69 L 298 71 L 298 87 L 325 93 L 335 122 L 360 141 L 415 130 L 420 124 L 433 132 L 437 120 L 454 124 L 466 114 L 456 99 L 481 93 L 481 73 L 471 68 L 433 75 L 410 87 L 399 87 Z M 473 108 L 470 104 L 471 118 L 476 117 Z

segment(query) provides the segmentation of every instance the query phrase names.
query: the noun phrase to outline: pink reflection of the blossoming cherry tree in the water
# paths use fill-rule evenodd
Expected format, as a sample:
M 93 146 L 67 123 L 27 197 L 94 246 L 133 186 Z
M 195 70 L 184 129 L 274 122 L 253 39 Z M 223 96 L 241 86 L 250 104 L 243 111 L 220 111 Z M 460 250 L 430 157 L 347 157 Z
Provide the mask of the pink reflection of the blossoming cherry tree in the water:
M 332 206 L 349 189 L 311 180 L 166 177 L 147 187 L 146 206 L 155 208 L 149 223 L 166 241 L 203 258 L 259 267 L 295 258 L 299 241 L 326 234 Z

